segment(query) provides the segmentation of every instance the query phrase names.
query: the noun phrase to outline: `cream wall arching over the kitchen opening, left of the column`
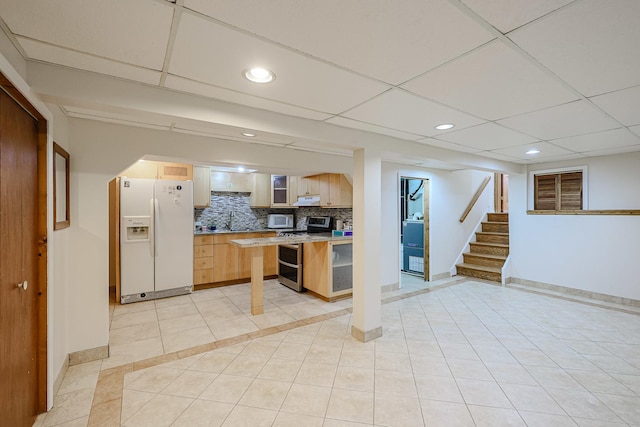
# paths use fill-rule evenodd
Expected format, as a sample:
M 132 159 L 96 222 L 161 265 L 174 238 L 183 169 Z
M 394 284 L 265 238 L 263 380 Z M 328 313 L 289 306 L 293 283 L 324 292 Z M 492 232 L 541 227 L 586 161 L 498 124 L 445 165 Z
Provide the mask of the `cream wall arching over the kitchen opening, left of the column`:
M 71 119 L 69 133 L 69 352 L 108 343 L 108 182 L 140 157 L 351 173 L 351 159 L 347 157 L 91 120 Z

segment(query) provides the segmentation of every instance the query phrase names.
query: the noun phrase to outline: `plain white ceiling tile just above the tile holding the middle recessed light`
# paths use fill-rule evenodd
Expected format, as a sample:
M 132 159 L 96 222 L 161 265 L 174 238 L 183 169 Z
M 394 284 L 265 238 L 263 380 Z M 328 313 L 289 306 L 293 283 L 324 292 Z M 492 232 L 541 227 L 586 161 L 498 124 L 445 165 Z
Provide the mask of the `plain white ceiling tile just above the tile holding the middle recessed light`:
M 402 87 L 488 120 L 577 99 L 575 93 L 502 41 L 478 48 Z

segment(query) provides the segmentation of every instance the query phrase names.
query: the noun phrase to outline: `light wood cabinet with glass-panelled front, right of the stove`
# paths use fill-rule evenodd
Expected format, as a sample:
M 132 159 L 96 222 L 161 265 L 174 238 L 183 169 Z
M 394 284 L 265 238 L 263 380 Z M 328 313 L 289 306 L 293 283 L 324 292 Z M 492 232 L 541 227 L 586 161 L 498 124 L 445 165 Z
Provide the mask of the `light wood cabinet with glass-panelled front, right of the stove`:
M 352 247 L 348 240 L 303 244 L 304 287 L 327 301 L 351 295 Z

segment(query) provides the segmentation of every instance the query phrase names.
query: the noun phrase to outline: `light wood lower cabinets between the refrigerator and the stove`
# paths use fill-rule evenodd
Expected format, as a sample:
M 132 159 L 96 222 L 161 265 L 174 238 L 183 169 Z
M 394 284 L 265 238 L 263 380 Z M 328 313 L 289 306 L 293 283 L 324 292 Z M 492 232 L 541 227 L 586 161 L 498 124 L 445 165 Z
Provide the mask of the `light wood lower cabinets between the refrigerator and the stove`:
M 251 279 L 251 254 L 229 243 L 236 239 L 274 237 L 275 232 L 197 235 L 193 247 L 195 285 Z M 278 274 L 277 247 L 264 248 L 264 276 Z

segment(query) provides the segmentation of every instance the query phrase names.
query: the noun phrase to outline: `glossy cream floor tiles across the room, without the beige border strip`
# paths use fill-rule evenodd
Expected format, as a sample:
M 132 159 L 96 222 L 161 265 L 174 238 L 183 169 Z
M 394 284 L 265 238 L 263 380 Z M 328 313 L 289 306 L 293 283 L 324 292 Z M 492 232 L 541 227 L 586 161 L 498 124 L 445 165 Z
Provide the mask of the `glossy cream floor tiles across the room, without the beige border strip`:
M 424 287 L 416 282 L 393 294 Z M 120 425 L 640 425 L 638 313 L 478 281 L 450 283 L 383 304 L 383 337 L 366 344 L 350 336 L 347 314 L 129 369 L 120 374 L 117 390 Z M 191 303 L 175 307 L 192 304 L 200 312 L 197 293 L 188 298 Z M 282 308 L 286 304 L 270 303 L 295 319 Z M 128 315 L 151 323 L 140 313 L 153 311 L 162 336 L 169 328 L 162 320 L 172 318 L 165 315 L 195 314 L 161 301 L 153 305 L 154 310 L 137 313 L 114 310 L 112 325 L 124 325 L 116 321 Z M 235 316 L 230 325 L 247 319 L 225 307 Z M 218 338 L 208 315 L 200 313 L 209 334 Z M 203 326 L 191 330 L 198 328 Z M 166 333 L 176 332 L 183 331 Z M 165 348 L 164 341 L 162 336 L 163 352 L 186 345 Z M 56 407 L 37 425 L 87 425 L 92 411 L 87 401 L 97 399 L 95 384 L 98 375 L 110 372 L 108 362 L 70 367 Z M 95 402 L 92 424 L 101 425 L 94 412 Z

